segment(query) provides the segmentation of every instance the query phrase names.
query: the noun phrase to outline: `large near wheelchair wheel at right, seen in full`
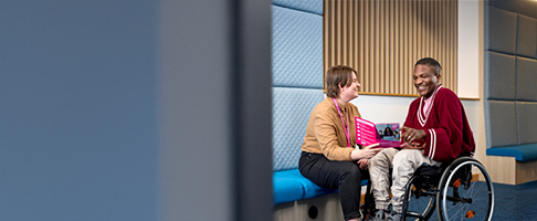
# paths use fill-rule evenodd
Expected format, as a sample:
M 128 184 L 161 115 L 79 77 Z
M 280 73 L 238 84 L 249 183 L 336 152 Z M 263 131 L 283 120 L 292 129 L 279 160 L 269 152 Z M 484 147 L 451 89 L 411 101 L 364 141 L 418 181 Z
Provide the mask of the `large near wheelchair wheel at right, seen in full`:
M 483 165 L 470 157 L 453 161 L 443 172 L 436 193 L 439 220 L 491 220 L 494 189 Z

